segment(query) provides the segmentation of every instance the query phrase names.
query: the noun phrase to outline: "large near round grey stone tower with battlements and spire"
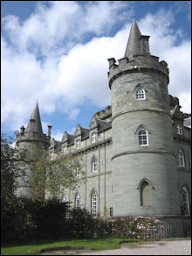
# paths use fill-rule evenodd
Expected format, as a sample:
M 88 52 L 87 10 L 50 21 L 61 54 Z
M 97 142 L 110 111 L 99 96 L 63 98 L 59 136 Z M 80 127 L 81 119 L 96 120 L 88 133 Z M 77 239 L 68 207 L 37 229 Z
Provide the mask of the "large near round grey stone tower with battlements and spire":
M 114 217 L 178 216 L 168 66 L 133 19 L 124 58 L 109 61 Z

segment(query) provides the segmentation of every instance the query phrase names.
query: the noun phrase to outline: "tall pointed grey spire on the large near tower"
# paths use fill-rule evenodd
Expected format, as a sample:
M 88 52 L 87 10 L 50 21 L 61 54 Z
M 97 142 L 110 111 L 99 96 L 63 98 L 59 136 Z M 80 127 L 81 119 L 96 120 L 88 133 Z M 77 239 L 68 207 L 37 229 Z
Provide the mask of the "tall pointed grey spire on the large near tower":
M 141 54 L 141 32 L 133 15 L 133 22 L 128 37 L 125 57 L 130 59 L 130 57 L 133 58 L 136 54 Z

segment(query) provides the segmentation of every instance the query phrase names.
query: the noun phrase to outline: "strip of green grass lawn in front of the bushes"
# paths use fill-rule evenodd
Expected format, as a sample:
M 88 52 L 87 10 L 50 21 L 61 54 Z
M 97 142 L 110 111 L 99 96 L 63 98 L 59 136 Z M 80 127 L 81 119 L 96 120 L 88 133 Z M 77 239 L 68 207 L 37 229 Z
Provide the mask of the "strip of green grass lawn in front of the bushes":
M 38 255 L 40 250 L 58 246 L 85 246 L 93 250 L 110 250 L 120 248 L 120 241 L 138 242 L 139 239 L 106 238 L 62 241 L 42 241 L 25 245 L 7 245 L 1 248 L 1 255 Z

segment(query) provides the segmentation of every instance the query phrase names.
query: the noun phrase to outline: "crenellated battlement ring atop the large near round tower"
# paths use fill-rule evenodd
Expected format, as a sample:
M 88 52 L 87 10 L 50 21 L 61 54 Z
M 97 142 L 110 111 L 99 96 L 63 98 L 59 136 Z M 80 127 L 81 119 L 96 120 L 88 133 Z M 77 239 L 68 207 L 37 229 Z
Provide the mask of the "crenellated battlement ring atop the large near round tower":
M 134 55 L 133 60 L 129 60 L 125 57 L 118 60 L 118 64 L 114 58 L 110 58 L 108 61 L 108 79 L 110 89 L 115 78 L 129 72 L 140 72 L 141 69 L 153 69 L 168 77 L 168 64 L 166 61 L 159 61 L 159 57 L 153 55 Z

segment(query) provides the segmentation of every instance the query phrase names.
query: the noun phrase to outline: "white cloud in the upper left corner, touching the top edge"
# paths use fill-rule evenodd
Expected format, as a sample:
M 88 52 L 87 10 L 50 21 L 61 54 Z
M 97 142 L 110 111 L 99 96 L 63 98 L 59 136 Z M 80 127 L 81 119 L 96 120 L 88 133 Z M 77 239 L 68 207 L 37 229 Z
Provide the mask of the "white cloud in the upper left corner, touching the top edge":
M 19 52 L 29 51 L 44 57 L 66 53 L 74 42 L 81 42 L 88 33 L 101 36 L 113 29 L 114 23 L 127 19 L 127 4 L 102 1 L 78 4 L 75 1 L 39 2 L 35 13 L 21 23 L 9 15 L 3 18 L 3 29 Z M 118 15 L 121 11 L 121 15 Z M 112 18 L 113 16 L 113 18 Z

